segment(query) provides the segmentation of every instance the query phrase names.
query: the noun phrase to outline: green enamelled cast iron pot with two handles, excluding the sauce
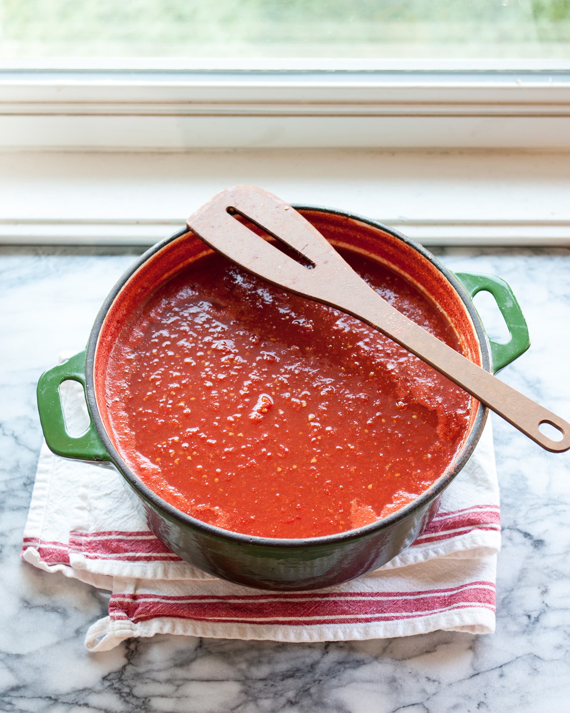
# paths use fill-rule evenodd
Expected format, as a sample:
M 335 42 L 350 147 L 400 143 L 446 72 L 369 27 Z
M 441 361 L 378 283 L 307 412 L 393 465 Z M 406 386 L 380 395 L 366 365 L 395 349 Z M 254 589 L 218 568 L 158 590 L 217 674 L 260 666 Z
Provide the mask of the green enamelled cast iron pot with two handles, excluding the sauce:
M 333 245 L 375 257 L 429 294 L 455 327 L 466 356 L 487 371 L 495 373 L 528 349 L 527 324 L 502 279 L 472 272 L 454 275 L 423 247 L 374 220 L 321 207 L 294 207 Z M 252 537 L 203 523 L 150 491 L 118 453 L 106 414 L 105 374 L 124 316 L 160 284 L 208 252 L 199 238 L 184 229 L 145 252 L 125 272 L 95 319 L 86 351 L 48 369 L 39 380 L 38 409 L 46 443 L 63 458 L 116 468 L 157 538 L 182 559 L 216 577 L 261 589 L 312 590 L 380 567 L 422 533 L 437 512 L 443 491 L 471 456 L 487 419 L 487 408 L 475 399 L 467 434 L 454 461 L 427 491 L 383 520 L 326 537 Z M 510 332 L 505 343 L 494 342 L 484 332 L 471 301 L 480 290 L 491 292 L 501 309 Z M 90 426 L 78 437 L 66 431 L 59 394 L 66 379 L 78 381 L 86 393 Z

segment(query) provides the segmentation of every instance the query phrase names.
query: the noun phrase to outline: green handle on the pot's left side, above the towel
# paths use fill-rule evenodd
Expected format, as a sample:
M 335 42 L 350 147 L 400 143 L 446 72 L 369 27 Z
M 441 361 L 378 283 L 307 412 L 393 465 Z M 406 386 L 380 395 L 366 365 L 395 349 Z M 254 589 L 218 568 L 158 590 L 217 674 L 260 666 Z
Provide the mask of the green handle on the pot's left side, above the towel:
M 93 419 L 90 419 L 88 429 L 81 436 L 71 436 L 66 429 L 59 387 L 68 379 L 78 381 L 85 393 L 85 356 L 85 351 L 79 352 L 40 376 L 37 394 L 41 428 L 48 448 L 57 456 L 78 461 L 110 461 Z

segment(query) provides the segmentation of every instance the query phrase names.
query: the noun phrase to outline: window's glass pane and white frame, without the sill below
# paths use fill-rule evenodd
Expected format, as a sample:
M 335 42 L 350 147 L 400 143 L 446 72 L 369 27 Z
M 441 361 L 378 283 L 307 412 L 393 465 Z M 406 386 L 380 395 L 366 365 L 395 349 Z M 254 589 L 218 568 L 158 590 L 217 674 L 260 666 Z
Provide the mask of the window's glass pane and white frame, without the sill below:
M 0 0 L 0 148 L 570 146 L 570 0 Z

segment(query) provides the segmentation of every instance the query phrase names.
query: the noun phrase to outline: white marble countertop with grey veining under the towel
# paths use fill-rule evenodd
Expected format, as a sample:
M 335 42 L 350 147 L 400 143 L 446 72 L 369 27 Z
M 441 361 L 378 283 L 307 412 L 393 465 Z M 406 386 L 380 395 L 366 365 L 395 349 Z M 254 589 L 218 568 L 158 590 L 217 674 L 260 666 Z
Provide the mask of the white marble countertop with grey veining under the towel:
M 519 298 L 533 344 L 501 378 L 570 419 L 570 251 L 439 250 Z M 443 713 L 570 709 L 570 454 L 494 418 L 502 492 L 497 632 L 283 644 L 161 636 L 89 655 L 108 595 L 19 558 L 41 431 L 35 389 L 81 349 L 133 255 L 0 252 L 0 710 Z M 489 329 L 499 320 L 484 300 Z

